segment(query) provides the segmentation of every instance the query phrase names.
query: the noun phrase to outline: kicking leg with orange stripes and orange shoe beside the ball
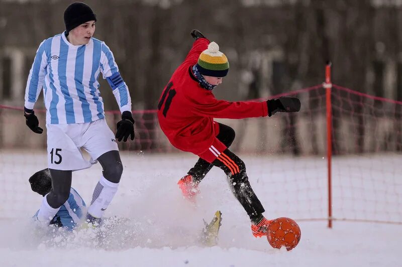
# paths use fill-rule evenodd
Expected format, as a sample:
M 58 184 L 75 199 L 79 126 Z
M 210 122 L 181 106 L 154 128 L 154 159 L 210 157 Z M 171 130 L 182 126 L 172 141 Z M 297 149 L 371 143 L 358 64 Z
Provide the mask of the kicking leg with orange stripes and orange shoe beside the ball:
M 229 149 L 216 153 L 218 157 L 213 161 L 213 165 L 226 173 L 232 192 L 250 217 L 253 235 L 266 235 L 270 221 L 262 215 L 265 210 L 248 181 L 246 165 Z

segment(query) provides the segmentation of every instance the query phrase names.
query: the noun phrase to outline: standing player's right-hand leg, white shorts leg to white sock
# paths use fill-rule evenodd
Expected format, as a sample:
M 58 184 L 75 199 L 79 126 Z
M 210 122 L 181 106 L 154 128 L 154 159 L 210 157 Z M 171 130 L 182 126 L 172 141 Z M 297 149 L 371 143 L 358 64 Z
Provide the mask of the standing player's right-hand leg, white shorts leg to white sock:
M 118 190 L 123 164 L 114 133 L 105 119 L 91 122 L 82 140 L 83 148 L 103 168 L 103 175 L 93 190 L 92 201 L 88 207 L 89 219 L 99 221 L 96 219 L 102 218 Z

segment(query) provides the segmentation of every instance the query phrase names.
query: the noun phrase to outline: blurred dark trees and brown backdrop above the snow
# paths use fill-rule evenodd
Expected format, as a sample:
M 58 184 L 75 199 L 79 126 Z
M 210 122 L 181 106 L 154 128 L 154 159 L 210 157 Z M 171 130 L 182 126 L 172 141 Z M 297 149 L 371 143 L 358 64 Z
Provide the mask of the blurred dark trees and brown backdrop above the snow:
M 72 2 L 0 0 L 0 148 L 45 148 L 45 138 L 34 135 L 16 109 L 24 105 L 39 44 L 64 31 L 63 12 Z M 231 120 L 238 133 L 234 150 L 325 152 L 325 89 L 312 86 L 325 80 L 327 60 L 332 61 L 333 82 L 353 90 L 333 89 L 334 153 L 346 153 L 346 147 L 357 153 L 401 149 L 400 102 L 359 93 L 402 101 L 402 0 L 85 3 L 97 15 L 94 37 L 113 51 L 132 96 L 137 138 L 121 144 L 123 150 L 175 151 L 152 110 L 190 49 L 194 28 L 217 42 L 229 58 L 229 75 L 214 90 L 218 99 L 263 100 L 307 88 L 296 93 L 302 99 L 297 115 Z M 115 129 L 120 114 L 113 111 L 118 106 L 109 85 L 100 82 L 108 121 Z M 44 108 L 42 94 L 35 108 Z M 37 113 L 45 126 L 44 113 Z M 379 124 L 370 126 L 373 120 Z M 345 131 L 351 137 L 341 137 Z

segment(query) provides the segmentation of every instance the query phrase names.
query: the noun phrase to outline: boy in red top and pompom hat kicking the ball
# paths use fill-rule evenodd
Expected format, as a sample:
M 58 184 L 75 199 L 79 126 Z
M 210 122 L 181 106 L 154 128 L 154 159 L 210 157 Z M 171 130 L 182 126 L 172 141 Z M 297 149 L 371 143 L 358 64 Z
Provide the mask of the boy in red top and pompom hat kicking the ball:
M 276 112 L 296 112 L 300 101 L 281 97 L 264 102 L 217 100 L 212 90 L 228 74 L 229 62 L 219 46 L 193 30 L 195 39 L 184 62 L 173 73 L 158 104 L 159 125 L 170 143 L 182 151 L 199 156 L 194 167 L 178 185 L 183 195 L 193 198 L 198 184 L 213 166 L 228 176 L 233 193 L 251 219 L 254 236 L 267 234 L 265 211 L 250 186 L 244 162 L 228 148 L 235 138 L 233 128 L 214 118 L 250 118 L 271 116 Z

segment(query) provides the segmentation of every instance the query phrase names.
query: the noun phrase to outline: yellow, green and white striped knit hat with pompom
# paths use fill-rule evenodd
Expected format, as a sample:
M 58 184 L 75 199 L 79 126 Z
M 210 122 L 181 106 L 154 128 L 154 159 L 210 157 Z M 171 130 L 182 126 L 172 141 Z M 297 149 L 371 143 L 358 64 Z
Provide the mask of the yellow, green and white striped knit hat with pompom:
M 229 61 L 225 54 L 219 51 L 218 44 L 212 42 L 208 49 L 199 55 L 196 67 L 200 74 L 225 77 L 229 72 Z

